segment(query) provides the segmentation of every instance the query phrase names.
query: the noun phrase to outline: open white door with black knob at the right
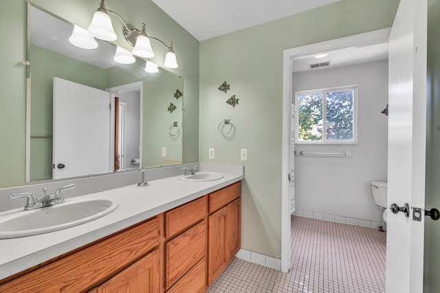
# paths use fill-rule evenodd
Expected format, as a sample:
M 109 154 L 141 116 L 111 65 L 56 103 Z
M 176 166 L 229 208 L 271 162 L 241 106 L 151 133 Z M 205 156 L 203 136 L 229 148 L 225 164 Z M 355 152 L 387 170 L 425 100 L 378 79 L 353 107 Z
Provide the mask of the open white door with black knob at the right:
M 386 292 L 423 292 L 426 156 L 426 0 L 401 0 L 389 42 L 388 207 L 409 204 L 409 218 L 388 209 Z M 422 213 L 423 214 L 423 213 Z

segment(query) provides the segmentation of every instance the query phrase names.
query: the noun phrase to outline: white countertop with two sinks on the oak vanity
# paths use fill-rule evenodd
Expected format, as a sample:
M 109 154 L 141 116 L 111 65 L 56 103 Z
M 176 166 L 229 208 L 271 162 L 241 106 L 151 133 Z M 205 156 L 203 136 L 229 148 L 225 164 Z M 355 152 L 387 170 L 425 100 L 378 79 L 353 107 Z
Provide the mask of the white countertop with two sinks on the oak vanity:
M 225 170 L 203 170 L 223 174 L 219 180 L 188 182 L 175 176 L 148 181 L 146 187 L 131 185 L 67 198 L 66 202 L 78 198 L 107 198 L 118 202 L 119 207 L 102 218 L 61 231 L 0 239 L 0 280 L 244 178 L 242 166 L 241 172 L 236 172 L 236 168 L 233 173 L 225 173 Z

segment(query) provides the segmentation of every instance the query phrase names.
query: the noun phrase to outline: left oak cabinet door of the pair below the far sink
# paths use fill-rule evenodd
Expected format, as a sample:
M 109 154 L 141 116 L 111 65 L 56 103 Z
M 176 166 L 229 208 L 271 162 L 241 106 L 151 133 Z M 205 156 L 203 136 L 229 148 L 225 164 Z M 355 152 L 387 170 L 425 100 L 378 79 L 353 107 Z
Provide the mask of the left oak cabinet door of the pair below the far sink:
M 225 248 L 226 215 L 223 207 L 209 216 L 208 227 L 208 285 L 214 281 L 228 264 Z

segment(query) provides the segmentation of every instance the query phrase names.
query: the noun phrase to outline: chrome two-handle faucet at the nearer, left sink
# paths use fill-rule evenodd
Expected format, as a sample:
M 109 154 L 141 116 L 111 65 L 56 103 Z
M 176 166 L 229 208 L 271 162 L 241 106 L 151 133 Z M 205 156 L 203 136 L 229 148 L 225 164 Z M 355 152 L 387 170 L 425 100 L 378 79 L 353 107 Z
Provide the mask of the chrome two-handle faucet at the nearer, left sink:
M 28 202 L 26 202 L 25 210 L 30 209 L 40 209 L 42 207 L 50 207 L 54 204 L 61 204 L 64 202 L 63 198 L 63 191 L 67 189 L 75 188 L 76 185 L 66 185 L 63 187 L 60 187 L 56 189 L 54 194 L 50 194 L 49 196 L 46 196 L 47 188 L 43 188 L 44 196 L 41 198 L 41 200 L 37 200 L 36 196 L 32 194 L 31 192 L 23 192 L 21 194 L 10 194 L 8 198 L 28 198 Z

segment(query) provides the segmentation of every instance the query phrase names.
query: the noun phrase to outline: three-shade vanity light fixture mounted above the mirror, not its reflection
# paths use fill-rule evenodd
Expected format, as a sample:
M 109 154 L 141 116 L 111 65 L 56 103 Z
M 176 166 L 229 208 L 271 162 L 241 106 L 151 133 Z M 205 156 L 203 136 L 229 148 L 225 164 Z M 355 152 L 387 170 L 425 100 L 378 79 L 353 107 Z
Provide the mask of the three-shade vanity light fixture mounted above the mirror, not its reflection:
M 96 38 L 100 38 L 101 40 L 116 40 L 118 36 L 116 36 L 115 31 L 113 30 L 109 12 L 118 16 L 118 19 L 120 19 L 120 21 L 122 21 L 124 24 L 122 32 L 126 41 L 134 47 L 132 53 L 135 56 L 142 58 L 153 58 L 155 54 L 151 48 L 150 39 L 154 39 L 162 43 L 162 45 L 168 49 L 164 66 L 168 68 L 177 67 L 176 56 L 173 51 L 173 43 L 170 43 L 170 45 L 167 46 L 164 42 L 162 42 L 162 40 L 159 40 L 153 36 L 148 36 L 145 31 L 144 23 L 142 23 L 142 30 L 138 30 L 132 25 L 127 25 L 118 13 L 105 8 L 104 0 L 101 0 L 100 7 L 95 12 L 94 18 L 92 19 L 87 32 Z

